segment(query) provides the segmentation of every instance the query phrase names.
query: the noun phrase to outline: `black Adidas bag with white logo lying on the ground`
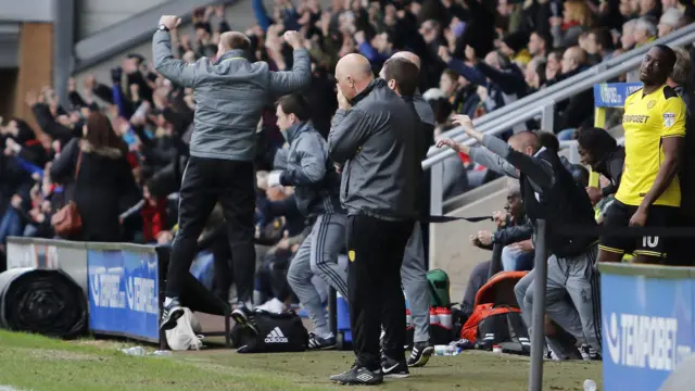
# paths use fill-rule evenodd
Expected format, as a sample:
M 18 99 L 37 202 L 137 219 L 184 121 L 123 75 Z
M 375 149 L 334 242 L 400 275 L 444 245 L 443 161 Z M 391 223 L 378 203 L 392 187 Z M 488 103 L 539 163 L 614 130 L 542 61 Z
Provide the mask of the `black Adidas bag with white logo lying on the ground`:
M 231 331 L 232 345 L 238 353 L 303 352 L 308 346 L 308 332 L 302 318 L 290 311 L 283 314 L 255 313 L 258 330 L 235 326 Z

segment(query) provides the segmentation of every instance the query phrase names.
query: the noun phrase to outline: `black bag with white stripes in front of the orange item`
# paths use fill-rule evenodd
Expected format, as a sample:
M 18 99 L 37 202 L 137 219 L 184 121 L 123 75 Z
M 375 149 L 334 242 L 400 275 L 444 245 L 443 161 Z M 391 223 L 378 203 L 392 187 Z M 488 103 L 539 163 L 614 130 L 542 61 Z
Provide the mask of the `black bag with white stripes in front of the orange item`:
M 531 343 L 521 313 L 505 312 L 490 315 L 478 324 L 478 349 L 502 346 L 503 353 L 529 355 Z

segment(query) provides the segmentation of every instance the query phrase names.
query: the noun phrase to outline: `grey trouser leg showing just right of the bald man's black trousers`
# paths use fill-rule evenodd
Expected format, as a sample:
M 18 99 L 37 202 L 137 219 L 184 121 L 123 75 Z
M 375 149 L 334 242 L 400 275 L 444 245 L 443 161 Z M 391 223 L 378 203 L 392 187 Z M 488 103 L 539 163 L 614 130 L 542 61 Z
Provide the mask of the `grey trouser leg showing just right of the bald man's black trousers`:
M 405 247 L 401 279 L 408 300 L 410 323 L 415 327 L 414 342 L 430 340 L 430 290 L 425 267 L 425 247 L 420 223 L 415 228 Z

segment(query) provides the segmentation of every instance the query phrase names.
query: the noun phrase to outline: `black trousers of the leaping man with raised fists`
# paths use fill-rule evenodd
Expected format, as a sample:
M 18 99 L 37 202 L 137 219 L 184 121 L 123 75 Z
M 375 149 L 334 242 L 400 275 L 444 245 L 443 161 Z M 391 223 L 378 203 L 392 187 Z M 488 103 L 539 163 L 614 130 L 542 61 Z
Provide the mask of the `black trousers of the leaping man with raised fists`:
M 255 172 L 252 162 L 191 156 L 179 192 L 178 231 L 172 245 L 166 295 L 178 298 L 211 212 L 220 203 L 227 224 L 239 301 L 251 301 L 256 251 L 253 245 Z

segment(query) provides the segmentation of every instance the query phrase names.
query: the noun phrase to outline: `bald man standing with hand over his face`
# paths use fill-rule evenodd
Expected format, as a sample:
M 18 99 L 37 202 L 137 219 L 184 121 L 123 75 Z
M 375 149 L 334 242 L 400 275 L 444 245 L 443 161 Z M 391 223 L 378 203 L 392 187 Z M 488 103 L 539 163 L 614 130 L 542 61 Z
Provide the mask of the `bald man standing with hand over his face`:
M 339 109 L 328 135 L 331 160 L 342 171 L 341 202 L 348 210 L 348 295 L 355 365 L 332 376 L 343 384 L 378 384 L 379 336 L 384 355 L 405 366 L 405 300 L 401 265 L 417 218 L 420 161 L 416 146 L 419 118 L 413 106 L 375 79 L 359 54 L 336 66 Z M 407 367 L 405 367 L 407 374 Z M 403 376 L 395 371 L 394 376 Z

